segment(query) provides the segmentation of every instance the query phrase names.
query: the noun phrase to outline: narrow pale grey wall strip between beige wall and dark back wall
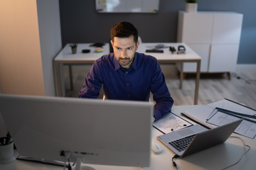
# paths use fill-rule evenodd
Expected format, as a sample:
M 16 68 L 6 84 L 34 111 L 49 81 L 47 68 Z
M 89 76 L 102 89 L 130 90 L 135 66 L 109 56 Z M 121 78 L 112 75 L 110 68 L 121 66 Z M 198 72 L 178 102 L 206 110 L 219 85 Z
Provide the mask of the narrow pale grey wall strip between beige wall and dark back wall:
M 53 58 L 61 50 L 58 0 L 37 0 L 38 24 L 46 96 L 55 96 Z

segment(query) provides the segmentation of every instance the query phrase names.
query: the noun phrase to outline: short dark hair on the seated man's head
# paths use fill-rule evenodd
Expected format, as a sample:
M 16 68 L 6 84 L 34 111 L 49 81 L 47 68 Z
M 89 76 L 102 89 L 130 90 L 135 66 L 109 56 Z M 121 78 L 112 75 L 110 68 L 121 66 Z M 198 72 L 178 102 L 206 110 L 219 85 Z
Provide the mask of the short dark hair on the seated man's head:
M 134 42 L 138 42 L 138 30 L 135 28 L 132 23 L 121 22 L 116 23 L 112 26 L 110 30 L 111 40 L 114 42 L 114 37 L 117 38 L 129 38 L 131 35 L 134 35 Z

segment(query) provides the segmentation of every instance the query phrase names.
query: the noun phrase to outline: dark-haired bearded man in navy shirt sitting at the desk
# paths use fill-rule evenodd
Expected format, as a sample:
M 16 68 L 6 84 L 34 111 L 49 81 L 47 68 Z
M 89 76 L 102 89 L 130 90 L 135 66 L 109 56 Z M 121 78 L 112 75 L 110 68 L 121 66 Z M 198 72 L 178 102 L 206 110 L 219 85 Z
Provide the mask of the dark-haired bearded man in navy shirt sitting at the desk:
M 114 53 L 94 62 L 79 92 L 80 98 L 97 98 L 103 84 L 106 99 L 154 101 L 154 120 L 171 111 L 174 103 L 164 74 L 155 57 L 136 52 L 138 31 L 132 23 L 122 22 L 110 30 Z

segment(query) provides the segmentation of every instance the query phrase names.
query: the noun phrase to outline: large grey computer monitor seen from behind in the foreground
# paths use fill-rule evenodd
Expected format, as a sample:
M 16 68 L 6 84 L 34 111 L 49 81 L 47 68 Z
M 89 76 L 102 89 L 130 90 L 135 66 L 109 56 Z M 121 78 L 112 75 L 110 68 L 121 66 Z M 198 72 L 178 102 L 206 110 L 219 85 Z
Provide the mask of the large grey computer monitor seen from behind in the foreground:
M 153 103 L 0 95 L 0 113 L 25 157 L 149 166 Z

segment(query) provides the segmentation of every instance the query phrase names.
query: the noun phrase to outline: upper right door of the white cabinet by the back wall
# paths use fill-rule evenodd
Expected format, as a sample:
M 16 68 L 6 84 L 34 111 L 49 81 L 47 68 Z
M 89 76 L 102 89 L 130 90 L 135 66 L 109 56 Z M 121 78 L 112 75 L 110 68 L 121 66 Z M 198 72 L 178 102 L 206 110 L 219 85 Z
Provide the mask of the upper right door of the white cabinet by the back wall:
M 241 30 L 242 14 L 214 14 L 212 43 L 239 44 Z

